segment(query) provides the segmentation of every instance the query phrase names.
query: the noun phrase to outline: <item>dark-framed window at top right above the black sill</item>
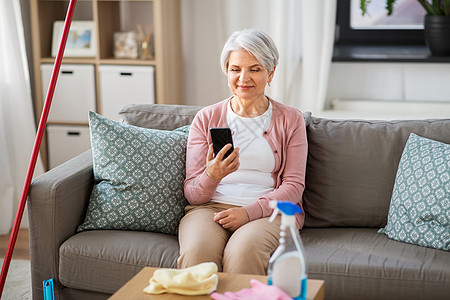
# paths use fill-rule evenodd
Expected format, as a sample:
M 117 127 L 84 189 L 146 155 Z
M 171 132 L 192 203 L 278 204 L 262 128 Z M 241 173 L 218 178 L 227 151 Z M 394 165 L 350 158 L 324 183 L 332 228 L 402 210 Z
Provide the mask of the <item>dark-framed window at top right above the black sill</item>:
M 337 44 L 425 45 L 425 10 L 417 0 L 396 0 L 388 16 L 383 0 L 371 1 L 362 16 L 359 0 L 338 0 Z

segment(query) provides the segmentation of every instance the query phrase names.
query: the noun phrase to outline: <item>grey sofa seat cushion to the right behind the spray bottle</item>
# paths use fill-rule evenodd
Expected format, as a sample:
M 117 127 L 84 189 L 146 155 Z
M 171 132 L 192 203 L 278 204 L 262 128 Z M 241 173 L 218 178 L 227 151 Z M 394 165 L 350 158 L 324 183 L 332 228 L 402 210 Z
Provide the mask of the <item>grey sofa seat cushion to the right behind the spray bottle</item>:
M 332 299 L 445 299 L 450 253 L 393 241 L 375 228 L 305 228 L 308 277 Z

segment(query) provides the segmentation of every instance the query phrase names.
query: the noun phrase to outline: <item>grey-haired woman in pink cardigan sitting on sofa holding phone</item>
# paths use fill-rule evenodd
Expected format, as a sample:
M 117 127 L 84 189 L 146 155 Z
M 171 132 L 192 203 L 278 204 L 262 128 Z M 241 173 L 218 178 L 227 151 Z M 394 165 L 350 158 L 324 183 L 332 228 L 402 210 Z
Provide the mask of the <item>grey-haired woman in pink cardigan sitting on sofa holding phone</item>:
M 178 267 L 214 262 L 227 273 L 266 273 L 278 246 L 280 218 L 270 223 L 271 200 L 301 206 L 307 157 L 301 112 L 265 95 L 278 50 L 263 31 L 234 32 L 221 55 L 233 93 L 198 112 L 189 132 L 180 222 Z M 228 144 L 214 156 L 209 129 L 230 127 Z M 297 216 L 303 226 L 304 215 Z

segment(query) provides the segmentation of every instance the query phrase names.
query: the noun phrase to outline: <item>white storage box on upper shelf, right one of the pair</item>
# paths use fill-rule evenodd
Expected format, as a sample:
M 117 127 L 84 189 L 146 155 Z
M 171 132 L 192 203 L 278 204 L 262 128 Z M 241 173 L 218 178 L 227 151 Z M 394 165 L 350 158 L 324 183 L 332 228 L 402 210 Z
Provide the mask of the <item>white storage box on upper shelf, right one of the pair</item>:
M 117 112 L 127 104 L 155 103 L 152 66 L 102 65 L 100 72 L 99 113 L 119 120 Z

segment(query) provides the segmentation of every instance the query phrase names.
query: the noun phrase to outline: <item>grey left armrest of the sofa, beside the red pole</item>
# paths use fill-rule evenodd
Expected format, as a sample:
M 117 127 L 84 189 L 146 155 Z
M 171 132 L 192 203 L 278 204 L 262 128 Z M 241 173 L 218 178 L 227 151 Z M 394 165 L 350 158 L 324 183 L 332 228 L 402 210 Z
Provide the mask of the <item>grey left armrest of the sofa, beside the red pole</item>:
M 59 248 L 84 220 L 94 183 L 87 151 L 34 179 L 27 200 L 33 299 L 42 299 L 42 282 L 59 282 Z M 56 294 L 56 293 L 55 293 Z

